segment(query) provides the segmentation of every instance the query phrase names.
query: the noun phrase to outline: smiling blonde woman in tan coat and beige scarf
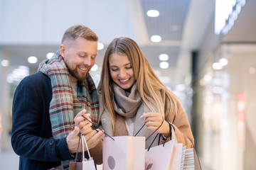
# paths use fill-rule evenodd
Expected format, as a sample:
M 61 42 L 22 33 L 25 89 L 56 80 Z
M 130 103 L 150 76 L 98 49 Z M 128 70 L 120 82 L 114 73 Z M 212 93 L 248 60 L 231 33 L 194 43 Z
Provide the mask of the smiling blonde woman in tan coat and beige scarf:
M 193 147 L 191 127 L 181 103 L 161 83 L 134 40 L 112 40 L 105 53 L 97 90 L 100 94 L 98 124 L 107 134 L 134 136 L 139 132 L 137 136 L 147 138 L 156 130 L 146 140 L 148 148 L 157 133 L 162 141 L 169 137 L 172 127 L 178 143 Z M 155 140 L 152 146 L 158 142 Z

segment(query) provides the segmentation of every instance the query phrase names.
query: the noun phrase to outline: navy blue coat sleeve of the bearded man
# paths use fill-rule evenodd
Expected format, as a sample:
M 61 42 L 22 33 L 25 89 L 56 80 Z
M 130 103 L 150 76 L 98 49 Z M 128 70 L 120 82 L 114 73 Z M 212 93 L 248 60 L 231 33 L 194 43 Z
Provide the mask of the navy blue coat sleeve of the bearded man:
M 48 112 L 50 100 L 47 99 L 48 95 L 51 99 L 51 89 L 47 90 L 48 77 L 40 78 L 26 77 L 16 89 L 11 145 L 16 154 L 27 159 L 42 162 L 73 159 L 66 138 L 53 138 Z

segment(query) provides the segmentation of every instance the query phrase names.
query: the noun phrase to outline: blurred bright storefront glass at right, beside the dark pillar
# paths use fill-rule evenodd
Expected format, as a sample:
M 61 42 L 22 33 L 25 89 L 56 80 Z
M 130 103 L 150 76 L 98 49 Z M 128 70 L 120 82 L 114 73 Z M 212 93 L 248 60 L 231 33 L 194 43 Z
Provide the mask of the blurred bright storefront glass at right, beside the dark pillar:
M 198 148 L 207 169 L 255 169 L 256 44 L 219 45 L 196 83 Z

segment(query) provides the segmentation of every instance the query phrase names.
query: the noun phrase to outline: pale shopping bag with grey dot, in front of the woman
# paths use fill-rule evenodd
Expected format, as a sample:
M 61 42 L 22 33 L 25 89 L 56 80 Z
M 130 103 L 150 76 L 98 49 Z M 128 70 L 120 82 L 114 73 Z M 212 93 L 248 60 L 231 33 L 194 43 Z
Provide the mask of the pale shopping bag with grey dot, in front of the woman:
M 145 137 L 119 136 L 103 138 L 103 170 L 144 169 Z

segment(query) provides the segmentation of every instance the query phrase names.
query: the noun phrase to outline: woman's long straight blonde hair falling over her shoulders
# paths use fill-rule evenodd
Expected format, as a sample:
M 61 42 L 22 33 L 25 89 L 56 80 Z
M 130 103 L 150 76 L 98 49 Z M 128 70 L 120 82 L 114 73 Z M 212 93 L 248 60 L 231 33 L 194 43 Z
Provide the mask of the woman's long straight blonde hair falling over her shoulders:
M 146 60 L 139 45 L 130 38 L 115 38 L 110 42 L 110 45 L 105 52 L 100 83 L 97 87 L 97 90 L 102 95 L 105 111 L 110 114 L 113 128 L 115 113 L 112 106 L 113 81 L 110 76 L 109 59 L 110 55 L 114 53 L 117 53 L 118 55 L 127 55 L 129 58 L 134 71 L 134 77 L 137 81 L 137 90 L 142 96 L 142 101 L 144 101 L 146 106 L 148 106 L 152 112 L 160 112 L 163 116 L 165 113 L 177 113 L 178 99 L 166 88 L 166 86 L 164 86 L 164 84 L 161 83 L 153 69 L 150 67 L 149 62 Z M 161 90 L 164 91 L 165 101 L 163 100 L 163 96 L 161 96 Z M 152 106 L 152 104 L 154 106 Z M 155 111 L 155 108 L 157 108 L 157 111 Z

